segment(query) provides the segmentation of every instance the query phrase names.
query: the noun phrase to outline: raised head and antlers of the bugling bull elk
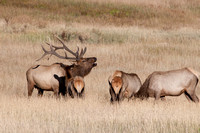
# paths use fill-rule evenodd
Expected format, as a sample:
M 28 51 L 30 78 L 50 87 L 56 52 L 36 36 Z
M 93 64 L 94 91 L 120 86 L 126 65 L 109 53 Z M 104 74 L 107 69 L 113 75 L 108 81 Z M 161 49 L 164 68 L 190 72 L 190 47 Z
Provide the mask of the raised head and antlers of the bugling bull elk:
M 75 62 L 74 64 L 72 64 L 69 69 L 67 71 L 69 71 L 70 75 L 72 77 L 75 76 L 81 76 L 84 77 L 87 74 L 89 74 L 89 72 L 92 70 L 93 67 L 97 66 L 97 58 L 96 57 L 89 57 L 89 58 L 83 58 L 83 55 L 86 53 L 87 48 L 85 47 L 84 49 L 82 48 L 79 51 L 79 47 L 77 48 L 76 52 L 73 52 L 72 50 L 70 50 L 65 43 L 59 38 L 56 37 L 58 39 L 58 41 L 62 44 L 61 47 L 58 46 L 54 46 L 51 45 L 49 43 L 46 42 L 46 44 L 48 46 L 50 46 L 50 51 L 47 51 L 43 46 L 42 49 L 44 51 L 44 54 L 42 55 L 41 58 L 39 58 L 37 61 L 41 60 L 44 56 L 46 55 L 54 55 L 60 59 L 67 59 L 67 60 L 71 60 L 73 62 Z M 60 55 L 56 52 L 56 50 L 62 49 L 64 50 L 65 55 Z M 73 57 L 69 57 L 67 55 L 67 53 L 70 53 Z

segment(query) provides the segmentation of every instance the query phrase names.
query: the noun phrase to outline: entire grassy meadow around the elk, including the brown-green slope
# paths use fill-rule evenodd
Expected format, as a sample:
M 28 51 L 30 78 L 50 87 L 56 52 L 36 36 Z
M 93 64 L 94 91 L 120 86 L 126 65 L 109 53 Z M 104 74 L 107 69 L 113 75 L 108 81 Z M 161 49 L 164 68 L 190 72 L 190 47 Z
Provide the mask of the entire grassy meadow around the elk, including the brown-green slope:
M 199 17 L 198 0 L 0 0 L 0 132 L 200 132 L 200 105 L 184 95 L 111 105 L 107 81 L 115 70 L 142 82 L 153 71 L 200 71 Z M 28 68 L 71 64 L 54 56 L 36 61 L 45 41 L 60 45 L 53 35 L 97 57 L 84 99 L 38 98 L 36 89 L 28 99 Z

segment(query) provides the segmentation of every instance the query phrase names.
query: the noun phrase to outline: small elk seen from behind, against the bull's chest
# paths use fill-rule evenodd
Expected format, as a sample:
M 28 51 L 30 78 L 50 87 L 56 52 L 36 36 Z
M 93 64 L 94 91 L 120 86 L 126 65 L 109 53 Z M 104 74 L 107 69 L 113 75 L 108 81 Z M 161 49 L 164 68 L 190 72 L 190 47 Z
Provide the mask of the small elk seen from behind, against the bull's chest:
M 67 87 L 68 93 L 72 98 L 83 97 L 84 89 L 85 89 L 85 82 L 83 77 L 81 76 L 76 76 L 75 78 L 71 79 Z

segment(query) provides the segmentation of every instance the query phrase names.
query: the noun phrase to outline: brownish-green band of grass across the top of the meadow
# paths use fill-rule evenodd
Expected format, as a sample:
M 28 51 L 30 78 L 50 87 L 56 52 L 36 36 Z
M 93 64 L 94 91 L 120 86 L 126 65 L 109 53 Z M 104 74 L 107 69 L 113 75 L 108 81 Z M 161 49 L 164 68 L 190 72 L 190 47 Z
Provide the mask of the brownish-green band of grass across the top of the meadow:
M 148 27 L 171 28 L 186 24 L 193 25 L 194 22 L 198 21 L 197 16 L 199 16 L 199 6 L 194 4 L 188 4 L 186 8 L 176 6 L 167 8 L 146 4 L 101 3 L 81 0 L 2 0 L 0 6 L 23 9 L 23 13 L 17 15 L 30 15 L 32 10 L 31 16 L 34 19 L 44 18 L 46 21 L 56 21 L 61 18 L 67 22 L 87 21 L 88 23 L 88 21 L 95 21 L 103 24 L 143 25 Z M 28 14 L 26 10 L 29 11 Z M 6 12 L 0 14 L 0 17 L 6 16 Z M 40 14 L 37 12 L 40 12 Z

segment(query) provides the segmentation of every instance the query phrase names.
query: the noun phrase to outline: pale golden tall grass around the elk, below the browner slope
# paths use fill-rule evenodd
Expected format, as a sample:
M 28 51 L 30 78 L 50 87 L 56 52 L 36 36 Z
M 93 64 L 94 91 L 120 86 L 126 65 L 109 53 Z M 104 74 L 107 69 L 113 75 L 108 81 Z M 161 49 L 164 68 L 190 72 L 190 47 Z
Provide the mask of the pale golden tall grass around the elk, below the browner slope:
M 40 44 L 44 40 L 53 43 L 48 39 L 49 33 L 61 33 L 63 28 L 43 31 L 35 28 L 25 33 L 7 32 L 9 27 L 1 30 L 0 132 L 199 132 L 200 106 L 188 102 L 184 96 L 167 97 L 166 101 L 156 104 L 149 99 L 111 105 L 107 83 L 108 76 L 116 69 L 137 73 L 142 81 L 155 70 L 190 66 L 199 71 L 199 31 L 94 27 L 102 33 L 121 32 L 131 36 L 124 43 L 77 44 L 78 41 L 72 41 L 68 44 L 72 49 L 77 45 L 87 46 L 86 56 L 98 58 L 98 66 L 85 77 L 84 100 L 55 99 L 52 92 L 37 98 L 36 90 L 31 99 L 27 98 L 25 72 L 30 66 L 54 62 L 70 64 L 55 57 L 35 61 L 42 54 Z M 94 27 L 75 24 L 64 30 L 84 32 Z M 131 37 L 138 41 L 130 41 Z M 200 96 L 199 86 L 197 95 Z

